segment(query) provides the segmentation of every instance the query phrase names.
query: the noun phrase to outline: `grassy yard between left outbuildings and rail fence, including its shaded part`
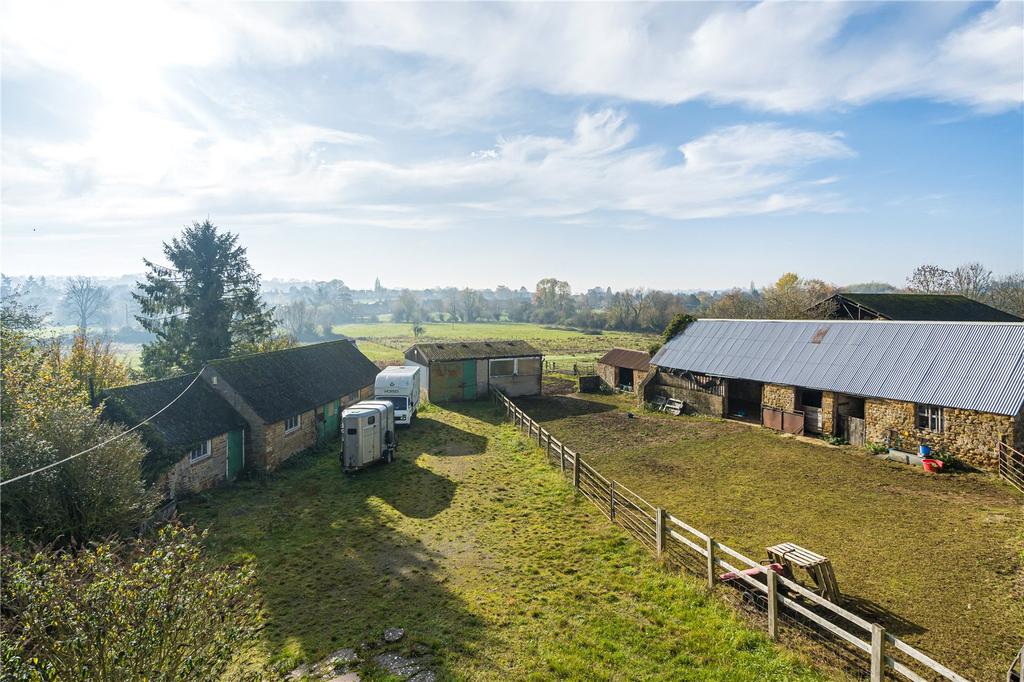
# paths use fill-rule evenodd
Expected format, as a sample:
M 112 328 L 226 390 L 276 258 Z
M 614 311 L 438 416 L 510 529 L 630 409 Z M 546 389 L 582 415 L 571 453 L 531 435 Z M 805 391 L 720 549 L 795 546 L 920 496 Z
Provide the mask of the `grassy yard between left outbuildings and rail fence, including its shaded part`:
M 215 556 L 259 566 L 249 665 L 401 627 L 395 646 L 432 652 L 440 679 L 823 679 L 574 498 L 489 403 L 459 410 L 428 409 L 394 464 L 346 476 L 303 456 L 184 505 Z

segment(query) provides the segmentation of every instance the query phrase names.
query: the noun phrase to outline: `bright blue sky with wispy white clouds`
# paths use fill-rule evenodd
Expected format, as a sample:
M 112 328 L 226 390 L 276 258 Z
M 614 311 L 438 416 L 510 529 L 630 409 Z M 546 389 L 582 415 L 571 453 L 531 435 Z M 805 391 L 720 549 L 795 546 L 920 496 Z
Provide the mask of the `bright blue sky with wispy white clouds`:
M 1024 269 L 1024 3 L 0 9 L 6 274 L 193 220 L 266 278 L 670 290 Z

